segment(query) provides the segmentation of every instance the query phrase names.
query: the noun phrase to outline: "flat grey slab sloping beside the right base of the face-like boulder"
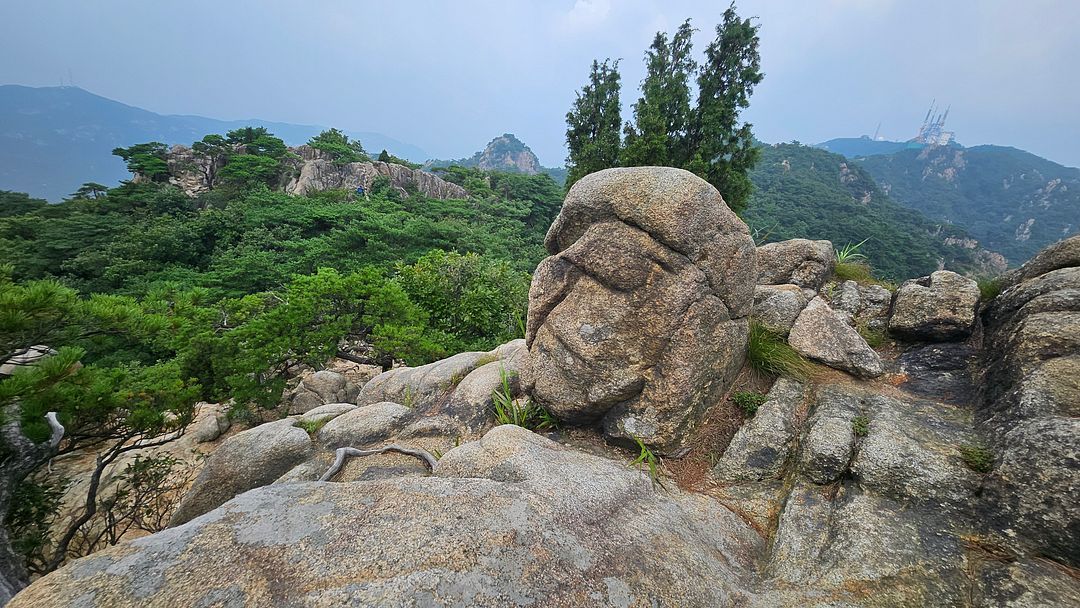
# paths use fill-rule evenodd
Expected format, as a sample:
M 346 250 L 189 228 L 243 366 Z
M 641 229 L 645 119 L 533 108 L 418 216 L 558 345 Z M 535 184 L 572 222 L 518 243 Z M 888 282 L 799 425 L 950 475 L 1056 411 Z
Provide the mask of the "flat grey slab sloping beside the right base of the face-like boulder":
M 804 398 L 804 384 L 781 378 L 750 421 L 731 438 L 713 468 L 721 482 L 777 478 L 787 461 L 798 433 L 796 414 Z

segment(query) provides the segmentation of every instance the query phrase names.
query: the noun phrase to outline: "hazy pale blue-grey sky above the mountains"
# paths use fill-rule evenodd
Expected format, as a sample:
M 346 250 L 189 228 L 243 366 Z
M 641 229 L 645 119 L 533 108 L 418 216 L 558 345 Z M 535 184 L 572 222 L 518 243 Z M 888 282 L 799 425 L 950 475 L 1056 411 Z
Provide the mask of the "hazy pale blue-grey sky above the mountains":
M 642 54 L 691 17 L 700 54 L 726 4 L 681 0 L 3 0 L 0 83 L 75 84 L 162 113 L 377 131 L 435 157 L 515 133 L 545 165 L 594 57 Z M 931 99 L 964 145 L 1080 166 L 1080 1 L 739 2 L 766 73 L 766 141 L 915 135 Z

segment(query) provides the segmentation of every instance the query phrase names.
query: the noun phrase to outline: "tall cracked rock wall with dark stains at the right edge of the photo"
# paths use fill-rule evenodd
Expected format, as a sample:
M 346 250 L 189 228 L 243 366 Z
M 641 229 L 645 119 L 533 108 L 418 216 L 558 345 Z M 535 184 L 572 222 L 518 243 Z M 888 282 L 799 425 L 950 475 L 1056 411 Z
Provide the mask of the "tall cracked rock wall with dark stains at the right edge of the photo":
M 996 468 L 984 498 L 999 529 L 1080 566 L 1080 237 L 1005 279 L 986 320 L 976 420 Z

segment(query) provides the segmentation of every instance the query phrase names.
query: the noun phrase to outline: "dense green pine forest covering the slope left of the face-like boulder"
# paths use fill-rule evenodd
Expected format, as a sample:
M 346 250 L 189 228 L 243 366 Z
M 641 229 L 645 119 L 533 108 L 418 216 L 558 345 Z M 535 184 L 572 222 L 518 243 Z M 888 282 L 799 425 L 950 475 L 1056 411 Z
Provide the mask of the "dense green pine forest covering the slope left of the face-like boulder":
M 363 153 L 334 131 L 312 145 L 340 161 Z M 59 204 L 0 192 L 0 364 L 50 349 L 0 376 L 0 424 L 40 442 L 45 413 L 57 411 L 67 433 L 50 449 L 98 455 L 86 506 L 51 536 L 38 523 L 55 488 L 27 479 L 50 449 L 0 438 L 11 532 L 0 560 L 15 564 L 17 550 L 35 572 L 114 542 L 123 526 L 157 525 L 95 527 L 99 508 L 145 511 L 154 497 L 144 486 L 160 484 L 143 482 L 168 467 L 140 469 L 143 481 L 107 496 L 94 479 L 125 451 L 175 437 L 199 400 L 249 411 L 279 404 L 298 368 L 336 354 L 419 365 L 521 336 L 528 273 L 563 198 L 546 175 L 464 167 L 443 174 L 465 200 L 403 195 L 386 180 L 364 195 L 292 197 L 273 189 L 292 153 L 260 127 L 192 146 L 213 187 L 197 198 L 167 185 L 163 146 L 117 153 L 138 179 L 86 184 Z M 9 467 L 14 458 L 25 465 Z

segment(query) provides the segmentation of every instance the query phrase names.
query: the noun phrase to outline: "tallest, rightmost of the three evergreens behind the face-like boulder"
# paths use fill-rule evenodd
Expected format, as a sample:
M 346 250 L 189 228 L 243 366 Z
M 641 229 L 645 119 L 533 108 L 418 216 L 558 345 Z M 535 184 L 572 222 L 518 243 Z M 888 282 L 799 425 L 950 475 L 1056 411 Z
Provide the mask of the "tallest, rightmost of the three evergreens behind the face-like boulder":
M 734 3 L 724 12 L 716 39 L 705 49 L 688 137 L 686 168 L 715 186 L 737 212 L 746 208 L 753 191 L 748 172 L 760 153 L 751 124 L 739 124 L 740 110 L 750 106 L 754 85 L 764 77 L 757 30 L 735 13 Z

